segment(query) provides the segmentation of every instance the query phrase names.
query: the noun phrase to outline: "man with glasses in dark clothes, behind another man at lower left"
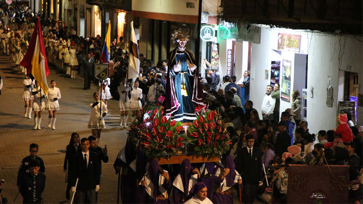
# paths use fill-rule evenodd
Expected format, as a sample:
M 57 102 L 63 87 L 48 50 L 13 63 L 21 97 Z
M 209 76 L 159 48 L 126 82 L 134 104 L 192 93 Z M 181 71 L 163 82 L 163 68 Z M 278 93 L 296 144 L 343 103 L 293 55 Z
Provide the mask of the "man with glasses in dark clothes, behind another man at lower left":
M 18 180 L 17 180 L 17 186 L 18 187 L 20 186 L 21 177 L 24 174 L 30 172 L 30 170 L 29 170 L 29 162 L 30 161 L 38 160 L 40 162 L 39 172 L 42 172 L 42 173 L 45 172 L 44 162 L 43 162 L 42 158 L 38 157 L 38 155 L 37 155 L 38 150 L 39 150 L 39 146 L 37 144 L 33 143 L 33 144 L 30 145 L 30 148 L 29 148 L 30 155 L 25 157 L 22 160 L 21 164 L 20 164 L 20 168 L 19 168 L 19 171 L 18 171 Z

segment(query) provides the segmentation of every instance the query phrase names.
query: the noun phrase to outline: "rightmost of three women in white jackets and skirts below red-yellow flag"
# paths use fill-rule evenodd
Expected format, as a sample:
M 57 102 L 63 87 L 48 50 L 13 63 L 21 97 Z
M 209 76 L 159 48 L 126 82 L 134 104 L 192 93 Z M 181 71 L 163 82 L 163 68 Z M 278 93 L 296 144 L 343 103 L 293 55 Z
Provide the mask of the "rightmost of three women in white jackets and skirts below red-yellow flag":
M 54 80 L 50 81 L 50 89 L 46 94 L 48 102 L 45 105 L 45 109 L 49 112 L 48 127 L 52 129 L 55 129 L 56 111 L 59 110 L 58 100 L 61 99 L 61 91 L 55 85 Z

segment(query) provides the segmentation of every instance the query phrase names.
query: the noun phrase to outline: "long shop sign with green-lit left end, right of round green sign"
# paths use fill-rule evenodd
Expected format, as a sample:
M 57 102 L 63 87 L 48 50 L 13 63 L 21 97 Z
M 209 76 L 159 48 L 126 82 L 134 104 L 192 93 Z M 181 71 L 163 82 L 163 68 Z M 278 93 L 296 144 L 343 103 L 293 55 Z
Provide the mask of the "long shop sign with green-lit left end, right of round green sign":
M 228 23 L 223 21 L 218 27 L 218 37 L 260 44 L 261 28 L 246 23 Z

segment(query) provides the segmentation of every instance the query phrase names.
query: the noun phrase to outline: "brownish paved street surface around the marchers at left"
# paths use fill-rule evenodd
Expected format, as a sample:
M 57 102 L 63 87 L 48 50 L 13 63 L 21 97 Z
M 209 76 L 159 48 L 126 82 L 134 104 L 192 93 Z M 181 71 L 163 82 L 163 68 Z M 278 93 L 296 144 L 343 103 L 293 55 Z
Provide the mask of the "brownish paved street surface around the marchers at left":
M 56 87 L 61 90 L 59 99 L 60 110 L 56 114 L 55 130 L 47 127 L 48 113 L 43 111 L 40 130 L 34 130 L 34 113 L 32 119 L 24 117 L 23 80 L 26 75 L 20 71 L 20 66 L 9 56 L 0 55 L 0 74 L 3 78 L 3 89 L 0 95 L 0 178 L 3 183 L 3 196 L 9 203 L 22 203 L 19 194 L 15 202 L 18 188 L 17 174 L 22 159 L 29 156 L 29 145 L 39 145 L 38 156 L 44 160 L 46 185 L 42 194 L 44 203 L 70 203 L 66 199 L 66 173 L 63 172 L 66 146 L 69 144 L 72 132 L 78 132 L 80 138 L 91 135 L 87 128 L 91 115 L 89 103 L 93 93 L 99 88 L 92 84 L 90 90 L 83 90 L 83 77 L 76 79 L 57 73 L 55 67 L 49 66 L 48 86 L 50 81 L 56 81 Z M 109 162 L 102 162 L 102 175 L 98 203 L 116 203 L 117 175 L 113 162 L 121 148 L 126 144 L 127 130 L 118 126 L 118 101 L 108 100 L 108 114 L 105 117 L 106 128 L 102 130 L 100 147 L 107 145 Z M 131 116 L 131 114 L 130 114 Z M 129 117 L 130 120 L 130 117 Z

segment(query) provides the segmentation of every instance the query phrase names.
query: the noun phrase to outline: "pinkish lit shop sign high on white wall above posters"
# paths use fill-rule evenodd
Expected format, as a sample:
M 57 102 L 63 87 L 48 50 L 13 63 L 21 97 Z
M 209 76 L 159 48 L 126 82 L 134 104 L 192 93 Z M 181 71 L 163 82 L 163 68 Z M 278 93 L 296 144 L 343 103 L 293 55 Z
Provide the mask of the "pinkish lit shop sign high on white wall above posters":
M 300 52 L 301 35 L 278 34 L 278 50 L 286 50 L 290 52 Z

